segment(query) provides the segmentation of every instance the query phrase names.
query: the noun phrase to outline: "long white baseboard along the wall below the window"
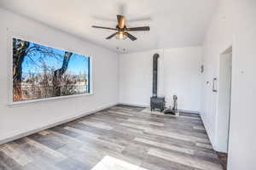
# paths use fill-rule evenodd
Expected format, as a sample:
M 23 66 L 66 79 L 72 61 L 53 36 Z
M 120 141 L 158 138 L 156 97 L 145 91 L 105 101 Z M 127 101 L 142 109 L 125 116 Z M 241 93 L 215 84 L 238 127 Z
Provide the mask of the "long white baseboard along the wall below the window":
M 75 116 L 73 114 L 73 115 L 58 118 L 55 121 L 45 123 L 43 126 L 40 126 L 38 128 L 35 128 L 35 129 L 27 129 L 27 130 L 23 130 L 22 132 L 12 133 L 9 136 L 6 136 L 6 137 L 3 137 L 2 139 L 0 139 L 0 144 L 5 144 L 5 143 L 8 143 L 8 142 L 13 141 L 15 139 L 20 139 L 20 138 L 26 137 L 28 135 L 31 135 L 33 133 L 38 133 L 38 132 L 40 132 L 42 130 L 45 130 L 45 129 L 48 129 L 50 127 L 55 127 L 55 126 L 61 125 L 61 124 L 66 123 L 66 122 L 71 122 L 73 120 L 79 119 L 80 117 L 96 113 L 97 111 L 102 111 L 102 110 L 108 109 L 109 107 L 112 107 L 114 105 L 118 105 L 118 103 L 102 105 L 101 107 L 99 107 L 95 110 L 83 111 L 82 113 L 76 114 Z

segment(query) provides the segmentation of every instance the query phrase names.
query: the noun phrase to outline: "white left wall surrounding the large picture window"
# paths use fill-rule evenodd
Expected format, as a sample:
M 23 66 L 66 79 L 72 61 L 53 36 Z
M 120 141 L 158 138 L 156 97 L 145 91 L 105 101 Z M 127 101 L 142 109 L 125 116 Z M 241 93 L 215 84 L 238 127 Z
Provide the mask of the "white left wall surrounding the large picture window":
M 118 55 L 0 8 L 0 141 L 118 103 Z M 9 31 L 7 31 L 7 28 Z M 8 106 L 9 33 L 93 59 L 94 94 Z

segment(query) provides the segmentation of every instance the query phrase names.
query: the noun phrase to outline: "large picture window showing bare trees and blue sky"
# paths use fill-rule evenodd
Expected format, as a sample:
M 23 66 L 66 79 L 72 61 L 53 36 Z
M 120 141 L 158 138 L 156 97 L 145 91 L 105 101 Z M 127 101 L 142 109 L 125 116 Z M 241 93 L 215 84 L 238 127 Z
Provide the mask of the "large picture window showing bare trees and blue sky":
M 90 57 L 13 38 L 13 102 L 90 93 Z

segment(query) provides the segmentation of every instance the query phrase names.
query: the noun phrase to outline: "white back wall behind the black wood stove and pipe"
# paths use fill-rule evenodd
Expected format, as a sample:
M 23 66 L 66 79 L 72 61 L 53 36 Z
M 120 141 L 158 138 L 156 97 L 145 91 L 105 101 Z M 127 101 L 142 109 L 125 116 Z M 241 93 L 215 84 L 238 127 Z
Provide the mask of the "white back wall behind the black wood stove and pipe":
M 119 59 L 119 101 L 149 105 L 152 96 L 153 55 L 160 54 L 158 94 L 172 105 L 177 94 L 178 108 L 201 110 L 201 47 L 169 48 L 121 54 Z

